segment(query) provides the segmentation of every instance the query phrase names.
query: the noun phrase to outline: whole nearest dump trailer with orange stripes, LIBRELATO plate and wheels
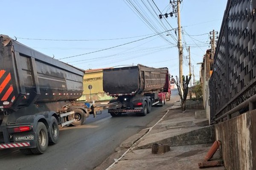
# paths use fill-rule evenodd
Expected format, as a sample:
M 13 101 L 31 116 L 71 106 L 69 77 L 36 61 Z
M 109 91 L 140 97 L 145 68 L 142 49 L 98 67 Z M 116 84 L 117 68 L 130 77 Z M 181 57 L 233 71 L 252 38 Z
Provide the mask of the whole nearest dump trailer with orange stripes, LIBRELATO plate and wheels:
M 58 126 L 84 123 L 84 71 L 0 35 L 0 149 L 41 154 Z

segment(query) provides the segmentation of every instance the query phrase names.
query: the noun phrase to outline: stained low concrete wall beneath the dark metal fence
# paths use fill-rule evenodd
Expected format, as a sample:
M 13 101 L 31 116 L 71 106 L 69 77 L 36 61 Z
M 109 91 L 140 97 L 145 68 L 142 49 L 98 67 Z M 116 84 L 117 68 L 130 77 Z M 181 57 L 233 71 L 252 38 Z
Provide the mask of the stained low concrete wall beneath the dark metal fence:
M 256 110 L 215 125 L 227 170 L 256 170 Z

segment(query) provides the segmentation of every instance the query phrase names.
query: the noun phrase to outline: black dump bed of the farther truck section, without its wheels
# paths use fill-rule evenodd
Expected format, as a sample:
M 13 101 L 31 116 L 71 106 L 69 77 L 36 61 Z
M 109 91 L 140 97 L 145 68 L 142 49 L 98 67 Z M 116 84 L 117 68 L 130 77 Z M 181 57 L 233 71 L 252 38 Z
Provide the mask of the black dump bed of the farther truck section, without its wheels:
M 103 70 L 103 90 L 109 95 L 141 94 L 166 84 L 168 70 L 137 65 Z

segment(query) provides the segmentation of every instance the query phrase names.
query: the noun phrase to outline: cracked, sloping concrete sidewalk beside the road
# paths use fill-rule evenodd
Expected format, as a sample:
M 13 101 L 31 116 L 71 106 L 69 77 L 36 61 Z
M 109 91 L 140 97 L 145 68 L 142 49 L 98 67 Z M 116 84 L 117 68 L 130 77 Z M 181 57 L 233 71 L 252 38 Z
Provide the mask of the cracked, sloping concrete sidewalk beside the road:
M 209 133 L 213 127 L 207 125 L 205 118 L 195 119 L 195 110 L 182 112 L 177 105 L 168 110 L 153 127 L 124 141 L 120 148 L 126 152 L 116 157 L 106 170 L 198 170 L 198 163 L 204 160 L 214 141 L 214 134 Z M 152 144 L 166 144 L 170 151 L 153 154 Z M 220 159 L 219 150 L 212 159 Z M 224 167 L 205 169 L 225 170 Z

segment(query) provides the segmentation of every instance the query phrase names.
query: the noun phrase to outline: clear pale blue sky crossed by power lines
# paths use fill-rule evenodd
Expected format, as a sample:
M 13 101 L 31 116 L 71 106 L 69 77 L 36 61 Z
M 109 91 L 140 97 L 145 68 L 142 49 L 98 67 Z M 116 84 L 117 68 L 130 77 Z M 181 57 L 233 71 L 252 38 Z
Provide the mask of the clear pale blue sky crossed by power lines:
M 182 1 L 183 74 L 189 74 L 186 48 L 190 45 L 195 79 L 199 79 L 197 63 L 209 48 L 209 31 L 220 30 L 226 4 L 227 0 Z M 162 14 L 172 11 L 169 0 L 2 1 L 0 34 L 15 36 L 37 51 L 82 69 L 143 64 L 168 67 L 178 76 L 177 18 L 160 20 L 157 8 Z M 76 55 L 80 56 L 72 57 Z

